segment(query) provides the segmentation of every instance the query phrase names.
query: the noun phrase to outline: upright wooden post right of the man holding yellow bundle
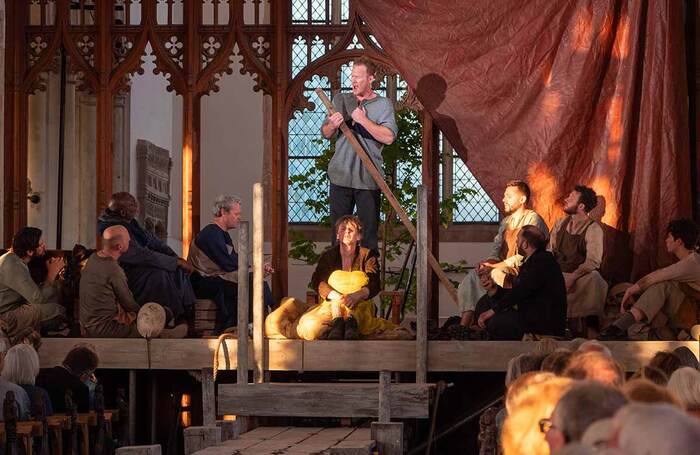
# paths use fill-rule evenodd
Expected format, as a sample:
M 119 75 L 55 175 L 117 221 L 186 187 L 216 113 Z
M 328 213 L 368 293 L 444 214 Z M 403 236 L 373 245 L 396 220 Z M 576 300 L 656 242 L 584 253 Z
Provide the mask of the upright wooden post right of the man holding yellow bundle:
M 416 383 L 425 384 L 428 369 L 428 195 L 423 185 L 418 187 L 417 201 Z

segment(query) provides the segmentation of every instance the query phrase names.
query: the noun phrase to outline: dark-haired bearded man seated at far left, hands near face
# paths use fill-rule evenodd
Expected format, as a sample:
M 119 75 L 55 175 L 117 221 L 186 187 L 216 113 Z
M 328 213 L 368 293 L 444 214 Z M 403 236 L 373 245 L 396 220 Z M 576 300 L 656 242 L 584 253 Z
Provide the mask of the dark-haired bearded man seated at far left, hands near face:
M 60 258 L 46 261 L 48 274 L 38 286 L 27 264 L 43 257 L 46 244 L 41 229 L 25 227 L 12 238 L 12 248 L 0 256 L 0 320 L 7 325 L 7 336 L 13 338 L 28 328 L 60 330 L 65 328 L 65 308 L 52 302 L 54 281 L 63 268 Z

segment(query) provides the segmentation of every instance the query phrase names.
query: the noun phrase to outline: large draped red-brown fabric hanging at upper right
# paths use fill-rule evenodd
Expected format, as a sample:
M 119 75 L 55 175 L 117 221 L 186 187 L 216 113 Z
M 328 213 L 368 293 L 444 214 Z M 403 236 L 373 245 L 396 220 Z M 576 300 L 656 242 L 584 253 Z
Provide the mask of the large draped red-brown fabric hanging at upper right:
M 683 2 L 356 0 L 489 195 L 523 178 L 551 224 L 575 184 L 629 233 L 632 274 L 663 262 L 691 207 Z

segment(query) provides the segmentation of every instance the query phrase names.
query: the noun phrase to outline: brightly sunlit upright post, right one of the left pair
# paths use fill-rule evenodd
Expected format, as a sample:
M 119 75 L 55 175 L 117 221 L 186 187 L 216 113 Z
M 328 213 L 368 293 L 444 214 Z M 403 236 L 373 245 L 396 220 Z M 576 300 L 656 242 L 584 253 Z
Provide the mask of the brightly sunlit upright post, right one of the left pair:
M 263 299 L 263 188 L 253 185 L 253 352 L 255 353 L 255 382 L 265 380 L 267 352 L 265 349 L 265 302 Z

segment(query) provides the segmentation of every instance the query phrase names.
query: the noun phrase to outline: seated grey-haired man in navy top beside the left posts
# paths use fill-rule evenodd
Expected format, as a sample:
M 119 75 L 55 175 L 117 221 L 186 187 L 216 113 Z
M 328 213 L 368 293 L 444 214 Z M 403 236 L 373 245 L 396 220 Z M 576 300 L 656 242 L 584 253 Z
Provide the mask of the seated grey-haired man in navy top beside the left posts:
M 216 325 L 214 333 L 219 334 L 238 324 L 238 253 L 233 247 L 229 229 L 239 226 L 241 220 L 241 200 L 236 196 L 221 195 L 214 201 L 214 219 L 204 227 L 190 245 L 187 262 L 196 273 L 192 274 L 192 287 L 199 299 L 211 299 L 216 303 Z M 266 275 L 274 270 L 270 264 L 264 265 Z M 248 275 L 251 291 L 248 293 L 251 305 L 248 307 L 249 321 L 253 319 L 253 275 Z M 263 296 L 269 311 L 274 307 L 272 293 L 264 283 Z

